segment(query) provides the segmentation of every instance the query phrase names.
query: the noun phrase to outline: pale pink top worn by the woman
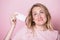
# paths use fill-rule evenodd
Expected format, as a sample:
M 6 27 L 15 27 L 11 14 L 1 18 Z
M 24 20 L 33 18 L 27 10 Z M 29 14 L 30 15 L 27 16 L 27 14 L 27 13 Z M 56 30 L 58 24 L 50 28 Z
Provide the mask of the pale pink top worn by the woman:
M 31 30 L 27 28 L 22 28 L 17 32 L 17 34 L 12 38 L 12 40 L 57 40 L 57 36 L 58 31 L 56 30 L 35 30 L 33 35 Z

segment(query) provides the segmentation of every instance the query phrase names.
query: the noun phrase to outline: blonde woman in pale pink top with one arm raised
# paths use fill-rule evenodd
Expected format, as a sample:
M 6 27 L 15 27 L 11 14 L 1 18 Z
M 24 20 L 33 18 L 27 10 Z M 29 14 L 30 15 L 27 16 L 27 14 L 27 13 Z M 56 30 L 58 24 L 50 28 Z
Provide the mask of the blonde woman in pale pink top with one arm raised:
M 11 38 L 11 34 L 16 25 L 16 15 L 11 18 L 12 28 L 5 40 L 58 40 L 58 31 L 54 30 L 51 25 L 51 16 L 48 9 L 36 3 L 32 6 L 26 17 L 26 27 Z

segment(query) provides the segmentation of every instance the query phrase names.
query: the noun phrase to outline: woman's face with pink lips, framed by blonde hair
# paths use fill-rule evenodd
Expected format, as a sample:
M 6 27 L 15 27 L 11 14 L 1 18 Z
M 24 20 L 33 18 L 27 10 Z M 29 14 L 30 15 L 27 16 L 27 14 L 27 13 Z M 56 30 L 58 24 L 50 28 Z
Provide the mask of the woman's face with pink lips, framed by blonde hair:
M 32 9 L 32 15 L 36 25 L 44 25 L 47 21 L 45 11 L 42 7 L 34 7 Z

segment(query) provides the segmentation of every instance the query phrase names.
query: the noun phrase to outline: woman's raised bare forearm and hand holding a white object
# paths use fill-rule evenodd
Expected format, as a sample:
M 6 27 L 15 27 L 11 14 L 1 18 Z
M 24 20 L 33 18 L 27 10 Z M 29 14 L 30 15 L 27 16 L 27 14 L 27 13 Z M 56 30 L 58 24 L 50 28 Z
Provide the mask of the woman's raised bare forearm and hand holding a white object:
M 11 36 L 12 36 L 12 33 L 14 31 L 14 28 L 16 26 L 16 14 L 13 14 L 11 17 L 10 17 L 10 20 L 11 20 L 11 28 L 10 30 L 8 31 L 6 37 L 5 37 L 5 40 L 10 40 L 11 39 Z

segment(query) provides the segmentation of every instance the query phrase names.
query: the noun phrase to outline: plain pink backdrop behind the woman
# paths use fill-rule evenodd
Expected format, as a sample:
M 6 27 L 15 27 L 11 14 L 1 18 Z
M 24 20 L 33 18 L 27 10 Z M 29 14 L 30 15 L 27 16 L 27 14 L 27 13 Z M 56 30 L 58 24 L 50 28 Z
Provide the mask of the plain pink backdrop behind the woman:
M 49 9 L 54 28 L 60 31 L 60 0 L 0 0 L 0 40 L 5 38 L 8 30 L 11 28 L 9 16 L 13 12 L 21 12 L 27 15 L 31 6 L 38 2 L 44 4 Z M 12 35 L 22 25 L 25 25 L 24 22 L 18 20 Z

